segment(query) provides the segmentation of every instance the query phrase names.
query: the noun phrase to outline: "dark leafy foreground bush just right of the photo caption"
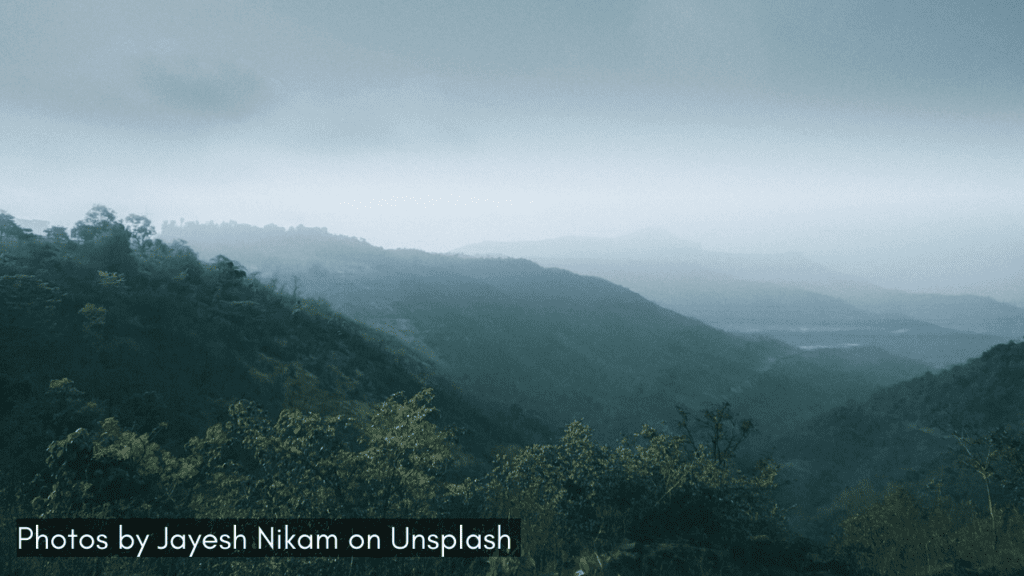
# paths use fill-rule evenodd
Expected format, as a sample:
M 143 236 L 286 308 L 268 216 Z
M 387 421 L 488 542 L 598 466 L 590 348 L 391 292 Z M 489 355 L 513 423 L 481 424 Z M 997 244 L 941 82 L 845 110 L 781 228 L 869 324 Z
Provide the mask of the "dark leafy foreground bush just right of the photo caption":
M 488 516 L 521 518 L 524 556 L 550 570 L 624 540 L 680 539 L 728 545 L 779 529 L 771 502 L 775 467 L 756 477 L 730 470 L 702 447 L 649 426 L 615 449 L 595 446 L 573 421 L 555 446 L 497 458 L 486 479 Z

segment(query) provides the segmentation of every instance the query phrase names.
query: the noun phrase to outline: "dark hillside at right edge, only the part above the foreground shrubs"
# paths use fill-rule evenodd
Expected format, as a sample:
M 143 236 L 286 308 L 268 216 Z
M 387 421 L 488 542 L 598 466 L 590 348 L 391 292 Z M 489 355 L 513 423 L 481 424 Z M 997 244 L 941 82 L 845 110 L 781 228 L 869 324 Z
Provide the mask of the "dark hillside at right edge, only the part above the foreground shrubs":
M 833 520 L 826 507 L 837 494 L 862 481 L 877 487 L 904 482 L 920 493 L 944 486 L 946 494 L 971 498 L 983 508 L 987 496 L 980 476 L 955 465 L 965 455 L 956 439 L 1024 423 L 1021 406 L 1024 342 L 999 344 L 965 364 L 876 390 L 864 402 L 831 409 L 773 443 L 771 451 L 782 463 L 780 479 L 793 483 L 780 501 L 795 505 L 794 517 L 803 517 L 810 531 Z M 985 449 L 978 452 L 983 455 Z M 1018 490 L 1024 486 L 1024 460 L 1012 463 L 1021 455 L 1007 453 L 1011 462 L 1005 465 L 992 460 L 993 469 L 1016 479 L 992 484 L 999 505 L 1024 504 Z

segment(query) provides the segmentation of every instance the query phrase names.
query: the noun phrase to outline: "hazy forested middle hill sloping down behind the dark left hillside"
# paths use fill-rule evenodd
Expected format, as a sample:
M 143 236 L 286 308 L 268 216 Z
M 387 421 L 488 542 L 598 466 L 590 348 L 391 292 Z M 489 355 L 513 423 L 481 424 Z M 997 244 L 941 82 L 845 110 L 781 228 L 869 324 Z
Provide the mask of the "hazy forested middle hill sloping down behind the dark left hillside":
M 801 351 L 743 338 L 610 282 L 531 261 L 384 250 L 323 229 L 165 222 L 162 238 L 230 253 L 288 289 L 385 328 L 474 394 L 615 441 L 676 405 L 731 401 L 764 430 L 798 422 L 923 364 L 873 348 Z

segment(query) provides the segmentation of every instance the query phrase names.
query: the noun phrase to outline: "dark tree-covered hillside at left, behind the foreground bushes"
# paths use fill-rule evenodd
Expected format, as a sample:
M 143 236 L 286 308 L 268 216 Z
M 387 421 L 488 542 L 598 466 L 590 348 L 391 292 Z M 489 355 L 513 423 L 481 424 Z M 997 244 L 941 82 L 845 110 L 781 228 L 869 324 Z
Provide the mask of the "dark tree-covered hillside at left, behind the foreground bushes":
M 144 217 L 122 221 L 100 207 L 70 234 L 52 228 L 40 237 L 0 216 L 0 437 L 4 461 L 16 463 L 9 471 L 28 474 L 54 438 L 106 417 L 139 434 L 159 430 L 181 453 L 239 400 L 273 415 L 349 417 L 425 386 L 440 421 L 473 430 L 463 448 L 481 462 L 499 444 L 557 434 L 507 408 L 469 405 L 394 338 L 262 284 L 223 256 L 201 261 L 156 240 Z

